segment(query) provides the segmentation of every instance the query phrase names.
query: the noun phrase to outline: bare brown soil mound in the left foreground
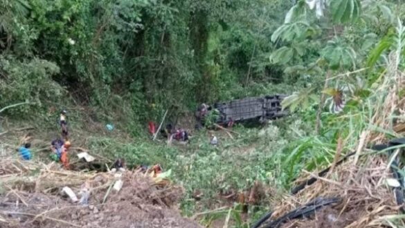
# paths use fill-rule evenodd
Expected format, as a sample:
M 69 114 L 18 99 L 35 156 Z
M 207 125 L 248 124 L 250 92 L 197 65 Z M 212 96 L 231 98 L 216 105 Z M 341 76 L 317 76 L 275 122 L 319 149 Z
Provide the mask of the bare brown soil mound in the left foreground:
M 96 179 L 93 189 L 105 186 Z M 123 182 L 118 192 L 93 191 L 86 206 L 62 193 L 9 191 L 0 195 L 0 227 L 201 227 L 179 214 L 181 187 L 159 187 L 139 173 L 127 173 Z

